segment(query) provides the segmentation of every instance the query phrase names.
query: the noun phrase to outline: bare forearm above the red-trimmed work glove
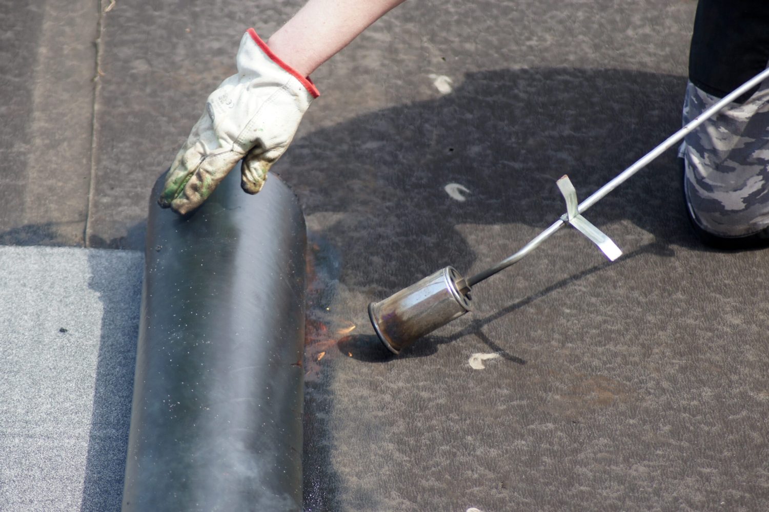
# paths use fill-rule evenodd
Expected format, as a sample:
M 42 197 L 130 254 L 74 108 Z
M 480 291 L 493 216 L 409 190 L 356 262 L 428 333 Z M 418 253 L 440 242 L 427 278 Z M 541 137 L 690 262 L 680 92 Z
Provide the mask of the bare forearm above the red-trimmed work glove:
M 309 0 L 267 41 L 275 55 L 305 76 L 404 0 Z

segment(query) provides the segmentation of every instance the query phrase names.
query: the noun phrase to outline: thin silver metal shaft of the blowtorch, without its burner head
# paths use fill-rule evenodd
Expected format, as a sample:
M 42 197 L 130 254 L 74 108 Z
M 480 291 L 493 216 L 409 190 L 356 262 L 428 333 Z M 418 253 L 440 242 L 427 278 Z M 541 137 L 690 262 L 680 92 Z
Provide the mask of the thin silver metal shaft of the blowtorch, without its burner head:
M 662 144 L 658 145 L 653 150 L 649 151 L 647 154 L 645 154 L 643 157 L 637 160 L 630 167 L 628 167 L 627 169 L 619 173 L 611 181 L 604 184 L 603 187 L 596 190 L 590 197 L 588 197 L 588 199 L 579 203 L 578 212 L 583 213 L 585 210 L 588 210 L 588 208 L 593 206 L 595 203 L 598 203 L 599 200 L 603 199 L 604 196 L 606 196 L 615 188 L 619 187 L 622 183 L 628 180 L 631 176 L 633 176 L 639 170 L 643 169 L 648 164 L 651 164 L 651 162 L 653 160 L 656 160 L 657 157 L 663 154 L 665 150 L 669 149 L 670 147 L 673 147 L 674 144 L 681 142 L 681 140 L 684 137 L 686 137 L 686 135 L 689 134 L 692 130 L 694 130 L 695 128 L 703 124 L 705 121 L 713 117 L 715 114 L 720 112 L 724 107 L 727 106 L 727 104 L 730 104 L 732 101 L 736 100 L 737 97 L 740 97 L 742 94 L 749 91 L 755 85 L 761 83 L 761 81 L 764 81 L 764 79 L 767 77 L 769 77 L 769 68 L 764 69 L 764 71 L 761 71 L 761 73 L 757 74 L 756 76 L 754 76 L 753 78 L 751 78 L 750 80 L 742 84 L 740 87 L 734 89 L 734 91 L 732 91 L 731 93 L 721 98 L 720 101 L 717 101 L 717 103 L 714 103 L 710 108 L 708 108 L 702 114 L 698 115 L 697 117 L 694 117 L 694 119 L 689 121 L 687 124 L 685 124 L 684 127 L 681 128 L 681 130 L 678 130 L 677 132 L 672 134 L 670 137 L 667 137 L 667 139 L 664 140 Z M 518 253 L 514 253 L 511 256 L 508 256 L 507 258 L 503 259 L 501 262 L 497 263 L 496 265 L 488 269 L 485 269 L 483 272 L 477 273 L 474 276 L 471 276 L 468 279 L 466 279 L 468 286 L 475 286 L 476 284 L 478 284 L 478 282 L 481 282 L 484 279 L 488 279 L 489 277 L 494 276 L 494 274 L 500 272 L 501 270 L 508 268 L 508 266 L 512 266 L 515 263 L 518 263 L 519 261 L 521 261 L 521 259 L 524 258 L 524 256 L 528 255 L 528 253 L 531 253 L 532 250 L 536 249 L 542 242 L 544 242 L 544 240 L 550 238 L 550 236 L 553 233 L 560 230 L 561 227 L 563 227 L 564 224 L 566 224 L 567 222 L 568 222 L 568 216 L 564 214 L 563 216 L 561 216 L 561 218 L 559 218 L 554 223 L 552 223 L 551 226 L 548 227 L 548 229 L 542 231 L 533 239 L 531 239 L 529 243 L 521 247 Z

